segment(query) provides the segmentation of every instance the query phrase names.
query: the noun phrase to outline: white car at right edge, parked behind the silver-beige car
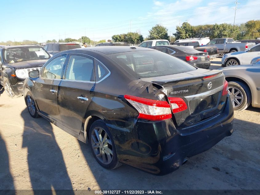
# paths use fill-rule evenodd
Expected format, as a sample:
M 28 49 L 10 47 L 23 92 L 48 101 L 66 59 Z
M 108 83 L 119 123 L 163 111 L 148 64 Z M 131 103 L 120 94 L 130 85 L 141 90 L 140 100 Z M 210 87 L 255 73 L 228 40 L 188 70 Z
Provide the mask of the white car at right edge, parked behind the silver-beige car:
M 251 60 L 258 56 L 260 56 L 260 43 L 246 51 L 238 51 L 223 55 L 222 67 L 250 64 Z

